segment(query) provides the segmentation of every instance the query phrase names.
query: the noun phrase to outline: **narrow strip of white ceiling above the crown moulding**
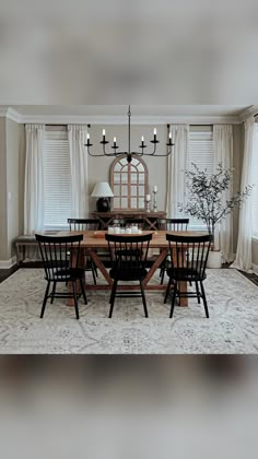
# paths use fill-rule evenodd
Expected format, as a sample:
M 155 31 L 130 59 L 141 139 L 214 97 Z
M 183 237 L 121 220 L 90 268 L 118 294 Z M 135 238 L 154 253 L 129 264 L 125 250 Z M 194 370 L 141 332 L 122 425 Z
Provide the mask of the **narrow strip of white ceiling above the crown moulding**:
M 248 105 L 132 105 L 132 116 L 239 116 Z M 127 105 L 13 105 L 24 116 L 126 116 Z

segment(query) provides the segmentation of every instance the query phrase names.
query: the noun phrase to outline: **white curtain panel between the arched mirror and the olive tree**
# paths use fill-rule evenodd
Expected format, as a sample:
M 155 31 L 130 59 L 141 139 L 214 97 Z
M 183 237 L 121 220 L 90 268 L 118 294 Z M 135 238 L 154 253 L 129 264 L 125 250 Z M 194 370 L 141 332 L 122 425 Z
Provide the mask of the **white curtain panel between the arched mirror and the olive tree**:
M 183 217 L 178 203 L 185 202 L 185 170 L 188 163 L 189 126 L 172 125 L 172 141 L 175 143 L 167 165 L 167 217 Z

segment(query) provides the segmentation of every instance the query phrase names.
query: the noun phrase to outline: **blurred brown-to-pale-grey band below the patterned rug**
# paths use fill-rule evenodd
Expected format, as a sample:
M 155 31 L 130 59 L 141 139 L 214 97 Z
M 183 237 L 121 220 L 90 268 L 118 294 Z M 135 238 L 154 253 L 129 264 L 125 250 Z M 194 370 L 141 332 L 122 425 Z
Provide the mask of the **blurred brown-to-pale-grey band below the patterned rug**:
M 248 357 L 3 357 L 1 458 L 256 458 Z

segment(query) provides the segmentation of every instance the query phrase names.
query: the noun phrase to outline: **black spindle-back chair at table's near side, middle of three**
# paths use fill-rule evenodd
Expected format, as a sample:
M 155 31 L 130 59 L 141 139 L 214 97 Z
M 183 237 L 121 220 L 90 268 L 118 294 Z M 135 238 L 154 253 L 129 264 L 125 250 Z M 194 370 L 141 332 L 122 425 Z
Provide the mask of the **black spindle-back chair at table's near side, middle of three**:
M 140 236 L 118 236 L 106 234 L 105 237 L 108 242 L 108 249 L 112 261 L 112 270 L 109 274 L 114 280 L 110 295 L 109 318 L 113 316 L 116 297 L 142 297 L 145 317 L 148 318 L 143 281 L 148 275 L 146 259 L 152 234 Z M 117 285 L 119 281 L 139 281 L 140 293 L 131 290 L 130 292 L 119 292 L 117 294 Z

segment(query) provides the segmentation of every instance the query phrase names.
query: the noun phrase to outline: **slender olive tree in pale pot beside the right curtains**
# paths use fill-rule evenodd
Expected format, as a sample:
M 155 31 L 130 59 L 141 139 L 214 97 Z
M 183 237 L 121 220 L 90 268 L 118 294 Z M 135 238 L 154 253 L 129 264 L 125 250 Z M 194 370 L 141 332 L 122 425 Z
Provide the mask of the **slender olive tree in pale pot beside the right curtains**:
M 233 183 L 234 169 L 223 168 L 219 164 L 214 174 L 208 174 L 192 164 L 191 170 L 186 170 L 186 203 L 178 204 L 180 212 L 206 223 L 213 236 L 212 250 L 209 258 L 210 268 L 221 268 L 222 254 L 215 245 L 215 229 L 223 219 L 241 205 L 250 196 L 253 186 L 247 186 L 243 192 L 236 192 L 231 199 L 224 200 L 223 193 Z

